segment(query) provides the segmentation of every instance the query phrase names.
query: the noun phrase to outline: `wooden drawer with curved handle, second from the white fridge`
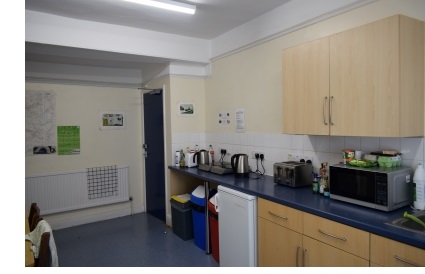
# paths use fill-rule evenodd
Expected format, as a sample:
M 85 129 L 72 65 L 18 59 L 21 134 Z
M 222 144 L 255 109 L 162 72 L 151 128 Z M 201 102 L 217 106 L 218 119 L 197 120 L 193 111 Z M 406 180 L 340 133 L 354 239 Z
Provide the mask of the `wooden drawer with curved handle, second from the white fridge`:
M 303 213 L 303 234 L 369 260 L 368 232 Z

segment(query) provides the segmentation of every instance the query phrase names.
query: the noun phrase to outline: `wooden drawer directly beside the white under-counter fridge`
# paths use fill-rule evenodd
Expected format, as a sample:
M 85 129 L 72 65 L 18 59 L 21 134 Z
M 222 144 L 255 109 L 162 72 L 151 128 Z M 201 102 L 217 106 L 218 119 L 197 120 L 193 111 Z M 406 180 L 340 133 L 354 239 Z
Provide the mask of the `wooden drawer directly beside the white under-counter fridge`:
M 302 212 L 278 203 L 258 199 L 258 217 L 269 220 L 286 228 L 302 231 Z

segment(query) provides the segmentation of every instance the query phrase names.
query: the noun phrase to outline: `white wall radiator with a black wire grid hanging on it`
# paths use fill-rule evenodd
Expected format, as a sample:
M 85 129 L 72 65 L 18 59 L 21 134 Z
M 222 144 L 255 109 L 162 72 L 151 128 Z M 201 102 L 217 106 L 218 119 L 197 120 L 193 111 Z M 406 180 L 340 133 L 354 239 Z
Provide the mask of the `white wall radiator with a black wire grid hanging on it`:
M 25 177 L 25 208 L 42 215 L 129 201 L 128 166 L 34 174 Z

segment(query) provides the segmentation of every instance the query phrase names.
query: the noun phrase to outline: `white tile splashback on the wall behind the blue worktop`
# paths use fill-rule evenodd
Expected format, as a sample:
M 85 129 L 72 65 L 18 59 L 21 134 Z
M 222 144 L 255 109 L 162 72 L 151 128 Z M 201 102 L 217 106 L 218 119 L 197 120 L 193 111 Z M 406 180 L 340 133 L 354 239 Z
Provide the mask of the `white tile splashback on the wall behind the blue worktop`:
M 309 155 L 313 158 L 314 170 L 317 172 L 321 162 L 330 165 L 342 161 L 342 150 L 350 148 L 365 153 L 379 150 L 397 150 L 402 153 L 402 165 L 416 168 L 419 162 L 424 163 L 424 138 L 376 138 L 376 137 L 340 137 L 290 135 L 276 133 L 205 133 L 188 132 L 172 135 L 172 155 L 187 147 L 207 149 L 212 145 L 218 160 L 220 149 L 226 149 L 230 155 L 236 153 L 251 155 L 251 151 L 264 152 L 263 162 L 266 175 L 273 175 L 273 164 L 288 160 L 288 153 Z M 249 160 L 251 169 L 257 168 L 254 159 Z M 260 170 L 262 168 L 260 166 Z

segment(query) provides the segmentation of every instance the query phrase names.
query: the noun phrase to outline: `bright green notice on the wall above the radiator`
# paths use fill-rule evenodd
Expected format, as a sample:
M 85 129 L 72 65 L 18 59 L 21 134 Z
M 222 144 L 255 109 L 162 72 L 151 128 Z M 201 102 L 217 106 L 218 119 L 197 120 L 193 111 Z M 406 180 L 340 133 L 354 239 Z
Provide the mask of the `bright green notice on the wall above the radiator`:
M 58 126 L 58 154 L 80 154 L 80 127 Z

